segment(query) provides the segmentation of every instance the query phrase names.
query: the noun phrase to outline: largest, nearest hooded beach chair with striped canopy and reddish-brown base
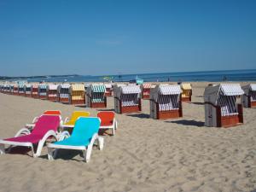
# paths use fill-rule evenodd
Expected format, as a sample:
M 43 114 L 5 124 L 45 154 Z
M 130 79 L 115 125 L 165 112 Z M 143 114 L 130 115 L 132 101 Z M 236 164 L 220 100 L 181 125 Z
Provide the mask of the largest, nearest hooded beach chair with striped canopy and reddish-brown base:
M 204 92 L 205 125 L 230 127 L 243 123 L 240 84 L 209 85 Z

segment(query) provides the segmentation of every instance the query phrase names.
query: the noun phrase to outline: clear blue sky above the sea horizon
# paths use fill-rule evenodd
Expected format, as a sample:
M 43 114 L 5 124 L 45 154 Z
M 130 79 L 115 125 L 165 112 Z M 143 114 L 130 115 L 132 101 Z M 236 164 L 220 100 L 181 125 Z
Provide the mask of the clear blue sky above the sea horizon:
M 256 66 L 256 1 L 0 0 L 0 75 Z

